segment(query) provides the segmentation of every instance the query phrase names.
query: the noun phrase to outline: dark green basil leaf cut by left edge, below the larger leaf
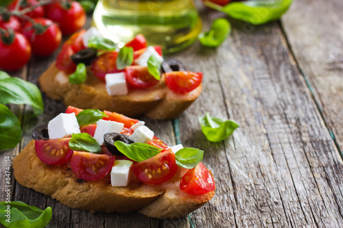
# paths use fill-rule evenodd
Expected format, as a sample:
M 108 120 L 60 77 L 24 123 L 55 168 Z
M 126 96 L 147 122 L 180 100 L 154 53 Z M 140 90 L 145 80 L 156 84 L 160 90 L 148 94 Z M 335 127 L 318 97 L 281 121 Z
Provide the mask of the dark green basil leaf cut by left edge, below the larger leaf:
M 10 109 L 0 104 L 0 150 L 10 149 L 21 140 L 21 123 Z

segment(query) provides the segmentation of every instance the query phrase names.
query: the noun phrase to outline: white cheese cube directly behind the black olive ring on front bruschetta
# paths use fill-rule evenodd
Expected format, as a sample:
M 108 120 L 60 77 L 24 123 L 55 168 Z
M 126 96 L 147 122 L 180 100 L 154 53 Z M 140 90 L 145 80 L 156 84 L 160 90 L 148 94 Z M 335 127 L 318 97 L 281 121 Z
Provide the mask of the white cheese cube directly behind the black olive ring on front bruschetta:
M 102 144 L 104 144 L 104 134 L 113 132 L 120 133 L 123 127 L 123 123 L 99 120 L 97 121 L 97 129 L 95 129 L 93 138 L 95 138 L 95 140 L 97 140 L 97 143 L 99 143 L 99 145 L 101 146 Z

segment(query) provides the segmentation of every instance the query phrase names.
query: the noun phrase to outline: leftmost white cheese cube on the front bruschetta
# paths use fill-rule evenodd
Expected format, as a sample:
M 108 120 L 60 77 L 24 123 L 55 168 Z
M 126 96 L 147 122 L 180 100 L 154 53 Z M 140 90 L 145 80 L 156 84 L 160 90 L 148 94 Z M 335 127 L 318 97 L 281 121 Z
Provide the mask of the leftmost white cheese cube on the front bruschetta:
M 50 139 L 63 138 L 71 136 L 73 133 L 80 133 L 80 126 L 75 113 L 61 113 L 47 125 L 47 131 Z

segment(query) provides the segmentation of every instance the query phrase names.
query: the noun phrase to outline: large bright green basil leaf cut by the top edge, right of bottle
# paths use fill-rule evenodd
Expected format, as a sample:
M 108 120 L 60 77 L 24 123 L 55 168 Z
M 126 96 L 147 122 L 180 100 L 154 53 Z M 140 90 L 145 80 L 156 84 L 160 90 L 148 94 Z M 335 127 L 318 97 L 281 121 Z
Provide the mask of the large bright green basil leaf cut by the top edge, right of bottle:
M 233 2 L 225 5 L 222 12 L 232 18 L 251 23 L 252 25 L 263 25 L 275 21 L 284 14 L 293 0 L 255 0 Z

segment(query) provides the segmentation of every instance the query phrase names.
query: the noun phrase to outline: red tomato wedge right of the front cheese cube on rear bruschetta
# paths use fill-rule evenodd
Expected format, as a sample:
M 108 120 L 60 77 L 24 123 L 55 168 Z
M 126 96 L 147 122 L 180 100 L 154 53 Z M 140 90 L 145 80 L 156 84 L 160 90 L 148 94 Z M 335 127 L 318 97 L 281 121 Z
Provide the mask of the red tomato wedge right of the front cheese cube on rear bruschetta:
M 158 84 L 158 80 L 150 75 L 146 66 L 126 66 L 125 77 L 133 88 L 146 89 Z

